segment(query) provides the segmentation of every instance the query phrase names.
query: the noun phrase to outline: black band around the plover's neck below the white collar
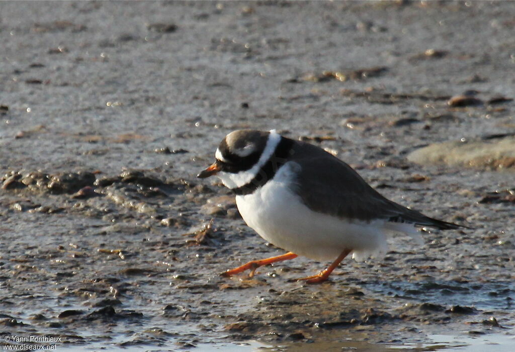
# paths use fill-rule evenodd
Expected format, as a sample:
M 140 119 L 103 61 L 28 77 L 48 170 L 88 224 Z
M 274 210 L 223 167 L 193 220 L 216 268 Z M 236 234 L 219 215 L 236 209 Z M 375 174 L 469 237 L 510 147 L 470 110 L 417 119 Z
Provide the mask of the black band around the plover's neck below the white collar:
M 291 147 L 294 141 L 289 138 L 281 137 L 281 140 L 277 144 L 276 150 L 270 156 L 268 161 L 261 166 L 261 169 L 254 176 L 250 182 L 244 184 L 242 187 L 233 188 L 231 191 L 238 195 L 247 195 L 254 193 L 255 190 L 263 186 L 268 180 L 271 180 L 279 168 L 284 165 L 287 161 L 287 157 L 290 155 Z

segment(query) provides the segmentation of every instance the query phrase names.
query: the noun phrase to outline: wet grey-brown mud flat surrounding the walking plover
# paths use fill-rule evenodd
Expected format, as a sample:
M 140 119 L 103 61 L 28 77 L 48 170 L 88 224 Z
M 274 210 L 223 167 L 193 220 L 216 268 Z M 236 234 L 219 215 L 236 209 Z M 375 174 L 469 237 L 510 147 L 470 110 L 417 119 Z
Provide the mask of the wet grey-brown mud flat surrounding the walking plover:
M 1 8 L 2 337 L 341 350 L 513 336 L 513 3 Z M 304 258 L 220 277 L 283 253 L 195 178 L 237 128 L 319 145 L 390 199 L 475 229 L 397 239 L 316 286 L 294 279 L 327 263 Z

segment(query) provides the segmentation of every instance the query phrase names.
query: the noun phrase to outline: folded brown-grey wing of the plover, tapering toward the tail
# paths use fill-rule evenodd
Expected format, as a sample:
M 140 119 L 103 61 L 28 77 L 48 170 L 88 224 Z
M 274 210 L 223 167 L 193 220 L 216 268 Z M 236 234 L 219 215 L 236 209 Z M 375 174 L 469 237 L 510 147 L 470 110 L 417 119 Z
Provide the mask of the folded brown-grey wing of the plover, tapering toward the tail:
M 313 211 L 365 221 L 384 219 L 440 229 L 460 227 L 386 199 L 347 163 L 311 144 L 299 144 L 293 152 L 290 160 L 298 164 L 299 173 L 292 188 Z

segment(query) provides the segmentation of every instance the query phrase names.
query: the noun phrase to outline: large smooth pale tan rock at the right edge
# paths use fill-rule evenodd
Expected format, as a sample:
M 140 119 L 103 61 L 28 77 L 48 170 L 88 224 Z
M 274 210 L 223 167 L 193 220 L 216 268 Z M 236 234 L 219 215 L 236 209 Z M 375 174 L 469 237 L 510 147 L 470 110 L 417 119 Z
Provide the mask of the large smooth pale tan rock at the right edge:
M 515 138 L 434 143 L 411 152 L 418 164 L 446 164 L 487 170 L 515 170 Z

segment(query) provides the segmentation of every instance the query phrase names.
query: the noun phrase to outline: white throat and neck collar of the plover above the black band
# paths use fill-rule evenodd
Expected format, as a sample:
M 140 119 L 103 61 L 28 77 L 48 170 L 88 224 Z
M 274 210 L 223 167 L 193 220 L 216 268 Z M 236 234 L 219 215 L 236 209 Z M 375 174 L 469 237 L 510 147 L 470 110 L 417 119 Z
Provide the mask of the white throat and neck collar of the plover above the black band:
M 229 172 L 219 172 L 218 174 L 216 174 L 216 176 L 218 176 L 222 183 L 224 183 L 224 186 L 229 189 L 245 186 L 245 184 L 252 181 L 252 179 L 258 174 L 260 169 L 266 164 L 268 159 L 270 159 L 273 152 L 276 151 L 277 145 L 280 141 L 281 135 L 278 134 L 275 129 L 272 129 L 270 131 L 270 134 L 268 135 L 268 140 L 266 141 L 266 146 L 263 150 L 263 153 L 261 153 L 261 157 L 259 158 L 258 162 L 256 162 L 254 166 L 252 166 L 252 168 L 250 168 L 249 170 L 240 171 L 237 174 Z

